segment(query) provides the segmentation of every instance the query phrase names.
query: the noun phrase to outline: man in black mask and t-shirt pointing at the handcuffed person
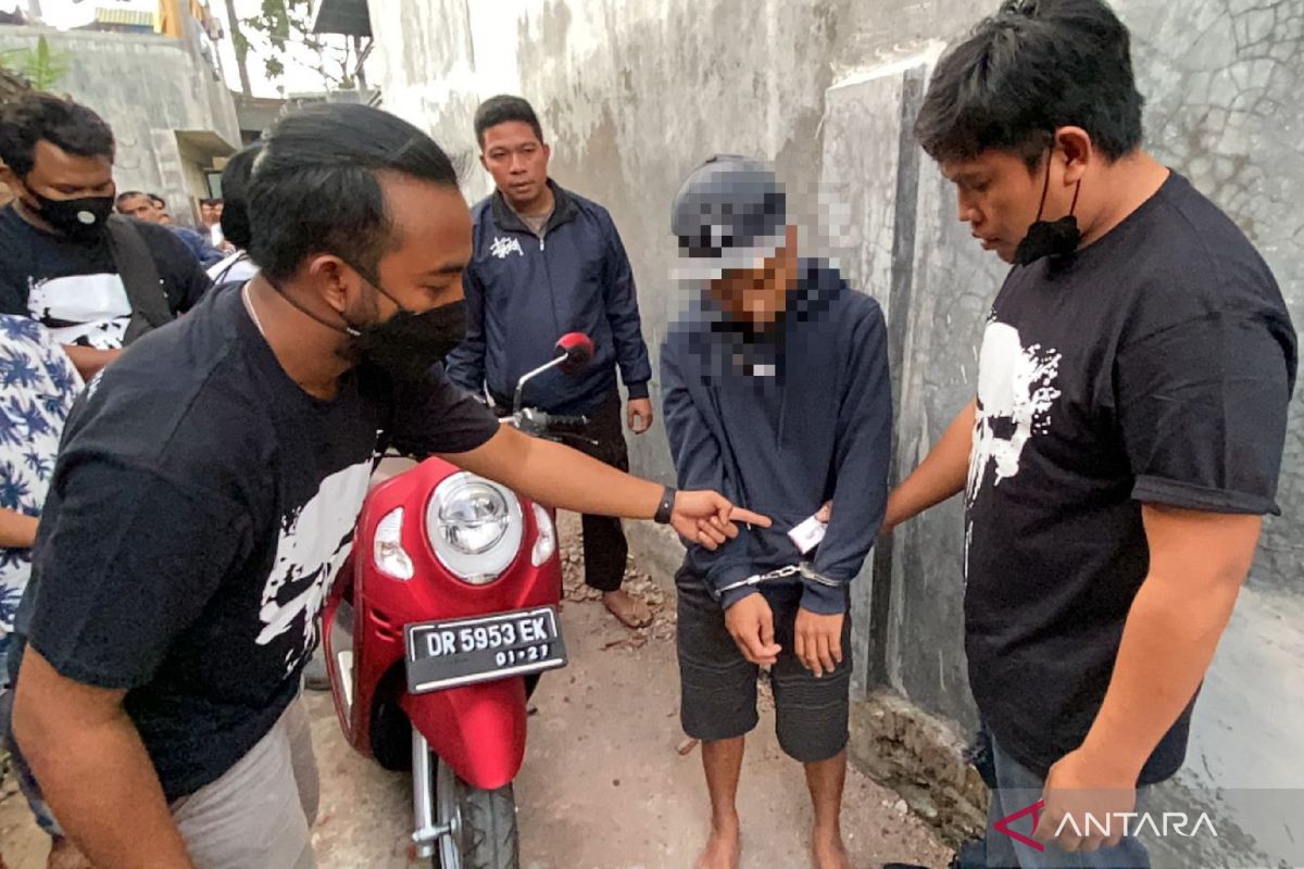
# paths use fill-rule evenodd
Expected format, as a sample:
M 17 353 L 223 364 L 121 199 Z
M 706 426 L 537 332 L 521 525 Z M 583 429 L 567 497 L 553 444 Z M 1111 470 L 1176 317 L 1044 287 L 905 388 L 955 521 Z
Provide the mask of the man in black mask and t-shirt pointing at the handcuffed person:
M 13 741 L 96 866 L 313 865 L 299 675 L 387 446 L 708 546 L 768 524 L 499 426 L 449 383 L 471 214 L 412 125 L 291 115 L 248 206 L 261 272 L 73 410 L 18 615 Z

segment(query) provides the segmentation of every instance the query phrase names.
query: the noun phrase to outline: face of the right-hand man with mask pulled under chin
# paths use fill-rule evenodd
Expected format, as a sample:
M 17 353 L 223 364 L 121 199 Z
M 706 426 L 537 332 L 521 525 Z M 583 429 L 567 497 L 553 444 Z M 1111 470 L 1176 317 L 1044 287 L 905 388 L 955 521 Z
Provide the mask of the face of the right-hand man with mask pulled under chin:
M 958 218 L 969 224 L 982 249 L 1013 262 L 1018 242 L 1037 220 L 1046 181 L 1045 159 L 1029 169 L 1016 154 L 988 150 L 971 160 L 943 160 L 941 173 L 956 185 Z M 1058 186 L 1061 185 L 1052 177 L 1045 212 L 1056 218 L 1068 211 L 1067 203 L 1060 207 L 1055 202 Z

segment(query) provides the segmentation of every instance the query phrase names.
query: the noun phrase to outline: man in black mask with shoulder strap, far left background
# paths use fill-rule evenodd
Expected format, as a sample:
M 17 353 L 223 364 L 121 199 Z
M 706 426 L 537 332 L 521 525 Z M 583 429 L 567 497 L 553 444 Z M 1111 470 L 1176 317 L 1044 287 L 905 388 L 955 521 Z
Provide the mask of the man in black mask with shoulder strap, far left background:
M 113 150 L 85 106 L 25 94 L 0 107 L 0 180 L 16 194 L 0 211 L 0 313 L 50 328 L 86 379 L 209 288 L 171 231 L 110 218 Z M 133 302 L 158 285 L 156 310 Z

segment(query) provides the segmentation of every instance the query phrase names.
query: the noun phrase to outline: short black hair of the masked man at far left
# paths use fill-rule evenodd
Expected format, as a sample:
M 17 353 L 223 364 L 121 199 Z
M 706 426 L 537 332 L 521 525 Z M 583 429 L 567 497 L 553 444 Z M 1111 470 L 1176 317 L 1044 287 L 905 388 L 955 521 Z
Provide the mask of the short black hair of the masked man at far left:
M 20 178 L 37 162 L 37 142 L 77 156 L 113 160 L 113 130 L 85 106 L 50 94 L 23 94 L 0 106 L 0 159 Z

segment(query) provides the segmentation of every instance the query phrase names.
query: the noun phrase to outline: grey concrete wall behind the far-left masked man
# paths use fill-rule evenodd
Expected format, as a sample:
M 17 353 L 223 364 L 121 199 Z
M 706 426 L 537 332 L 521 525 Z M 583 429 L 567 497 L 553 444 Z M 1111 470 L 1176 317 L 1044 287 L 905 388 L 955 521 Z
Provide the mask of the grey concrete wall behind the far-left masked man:
M 193 221 L 189 201 L 202 188 L 188 182 L 188 160 L 173 130 L 211 130 L 232 147 L 240 145 L 231 91 L 198 50 L 167 36 L 0 27 L 0 51 L 31 47 L 42 35 L 51 50 L 72 55 L 53 90 L 113 128 L 117 188 L 158 193 L 179 221 Z

